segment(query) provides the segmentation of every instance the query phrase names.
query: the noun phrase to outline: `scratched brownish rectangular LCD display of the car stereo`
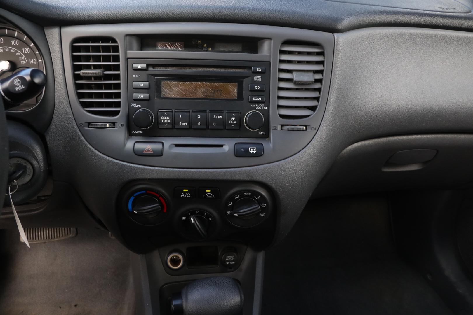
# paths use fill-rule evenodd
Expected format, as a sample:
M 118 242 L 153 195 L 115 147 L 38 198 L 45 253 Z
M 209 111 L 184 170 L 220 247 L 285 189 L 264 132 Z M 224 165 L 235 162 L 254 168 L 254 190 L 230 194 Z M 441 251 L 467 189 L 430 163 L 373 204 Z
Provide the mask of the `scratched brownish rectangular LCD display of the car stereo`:
M 236 100 L 238 83 L 162 80 L 161 97 Z

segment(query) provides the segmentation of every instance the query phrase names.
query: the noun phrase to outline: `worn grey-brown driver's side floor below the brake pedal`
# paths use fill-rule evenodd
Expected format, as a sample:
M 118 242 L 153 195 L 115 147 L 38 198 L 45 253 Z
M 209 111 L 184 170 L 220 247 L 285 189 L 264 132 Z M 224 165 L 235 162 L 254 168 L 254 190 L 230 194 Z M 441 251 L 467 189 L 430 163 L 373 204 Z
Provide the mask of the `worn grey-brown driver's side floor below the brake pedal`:
M 133 313 L 130 252 L 108 232 L 28 248 L 18 230 L 2 230 L 0 242 L 1 315 Z

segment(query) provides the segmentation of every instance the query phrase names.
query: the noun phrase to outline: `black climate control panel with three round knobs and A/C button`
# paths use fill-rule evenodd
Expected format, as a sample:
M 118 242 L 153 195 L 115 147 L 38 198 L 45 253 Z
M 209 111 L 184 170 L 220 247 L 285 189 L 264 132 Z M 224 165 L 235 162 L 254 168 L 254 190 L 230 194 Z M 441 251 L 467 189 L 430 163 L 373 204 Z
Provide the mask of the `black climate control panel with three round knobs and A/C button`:
M 270 190 L 251 182 L 138 181 L 123 187 L 118 219 L 136 251 L 183 241 L 268 246 L 275 207 Z

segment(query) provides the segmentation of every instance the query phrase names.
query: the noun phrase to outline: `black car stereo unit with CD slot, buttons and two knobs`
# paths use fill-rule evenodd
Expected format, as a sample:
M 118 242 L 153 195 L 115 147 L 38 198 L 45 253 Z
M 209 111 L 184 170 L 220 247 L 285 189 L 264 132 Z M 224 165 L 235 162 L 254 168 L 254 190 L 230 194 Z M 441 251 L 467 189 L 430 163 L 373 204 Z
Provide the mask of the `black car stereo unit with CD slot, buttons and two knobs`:
M 130 136 L 268 137 L 270 63 L 128 60 Z

